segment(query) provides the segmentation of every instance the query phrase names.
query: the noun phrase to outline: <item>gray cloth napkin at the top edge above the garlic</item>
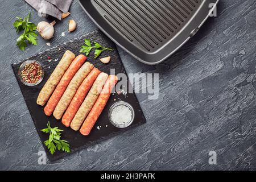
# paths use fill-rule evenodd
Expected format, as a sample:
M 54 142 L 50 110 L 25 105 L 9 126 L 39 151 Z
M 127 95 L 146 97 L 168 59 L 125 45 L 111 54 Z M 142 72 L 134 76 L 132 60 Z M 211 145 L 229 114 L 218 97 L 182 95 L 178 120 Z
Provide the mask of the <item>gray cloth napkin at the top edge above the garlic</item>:
M 73 0 L 25 0 L 38 11 L 39 16 L 51 15 L 61 20 L 62 13 L 67 13 Z

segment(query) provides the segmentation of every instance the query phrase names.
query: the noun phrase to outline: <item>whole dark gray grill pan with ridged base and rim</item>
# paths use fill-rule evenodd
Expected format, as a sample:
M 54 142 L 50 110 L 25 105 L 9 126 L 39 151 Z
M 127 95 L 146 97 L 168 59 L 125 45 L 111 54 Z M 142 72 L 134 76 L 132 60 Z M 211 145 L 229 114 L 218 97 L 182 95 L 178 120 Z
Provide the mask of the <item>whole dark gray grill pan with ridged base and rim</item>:
M 159 64 L 187 42 L 218 0 L 80 0 L 94 23 L 145 64 Z M 214 3 L 214 6 L 210 6 Z

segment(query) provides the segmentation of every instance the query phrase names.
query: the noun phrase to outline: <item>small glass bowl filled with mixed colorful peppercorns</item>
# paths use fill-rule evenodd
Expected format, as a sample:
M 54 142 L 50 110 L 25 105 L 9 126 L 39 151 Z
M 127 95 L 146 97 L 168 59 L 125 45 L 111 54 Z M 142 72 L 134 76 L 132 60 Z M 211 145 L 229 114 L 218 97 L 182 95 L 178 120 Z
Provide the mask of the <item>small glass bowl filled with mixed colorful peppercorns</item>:
M 44 70 L 38 61 L 27 60 L 20 65 L 18 75 L 24 85 L 35 86 L 43 80 Z

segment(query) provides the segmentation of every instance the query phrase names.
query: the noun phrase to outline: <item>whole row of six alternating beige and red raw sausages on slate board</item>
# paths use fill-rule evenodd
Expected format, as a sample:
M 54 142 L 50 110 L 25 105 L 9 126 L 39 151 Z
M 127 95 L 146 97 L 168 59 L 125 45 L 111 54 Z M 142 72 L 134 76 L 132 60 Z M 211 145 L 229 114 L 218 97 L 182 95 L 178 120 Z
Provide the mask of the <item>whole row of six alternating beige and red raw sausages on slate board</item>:
M 37 104 L 63 125 L 89 135 L 118 81 L 86 62 L 86 56 L 66 51 L 39 93 Z

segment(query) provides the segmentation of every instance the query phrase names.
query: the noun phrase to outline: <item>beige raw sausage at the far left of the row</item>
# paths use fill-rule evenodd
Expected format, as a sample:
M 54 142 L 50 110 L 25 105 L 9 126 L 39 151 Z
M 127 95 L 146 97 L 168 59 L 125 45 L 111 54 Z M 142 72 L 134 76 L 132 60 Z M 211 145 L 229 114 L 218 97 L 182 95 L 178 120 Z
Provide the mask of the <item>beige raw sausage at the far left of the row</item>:
M 44 106 L 46 104 L 57 84 L 59 84 L 60 79 L 63 77 L 65 71 L 67 71 L 69 65 L 72 63 L 75 57 L 75 54 L 73 54 L 71 51 L 66 51 L 64 53 L 59 64 L 52 72 L 52 75 L 49 77 L 46 84 L 44 84 L 41 92 L 39 93 L 38 100 L 36 100 L 38 105 Z

